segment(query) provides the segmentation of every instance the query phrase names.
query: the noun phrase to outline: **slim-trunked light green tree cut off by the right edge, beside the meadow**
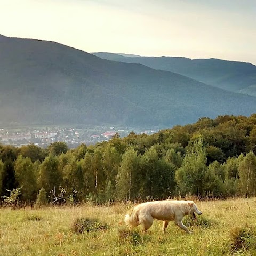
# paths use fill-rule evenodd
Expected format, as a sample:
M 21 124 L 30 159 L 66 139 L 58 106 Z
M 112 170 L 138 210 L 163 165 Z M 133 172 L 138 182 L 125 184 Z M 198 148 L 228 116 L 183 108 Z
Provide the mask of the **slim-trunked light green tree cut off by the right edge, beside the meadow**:
M 246 198 L 256 195 L 256 156 L 250 151 L 238 166 L 241 191 Z

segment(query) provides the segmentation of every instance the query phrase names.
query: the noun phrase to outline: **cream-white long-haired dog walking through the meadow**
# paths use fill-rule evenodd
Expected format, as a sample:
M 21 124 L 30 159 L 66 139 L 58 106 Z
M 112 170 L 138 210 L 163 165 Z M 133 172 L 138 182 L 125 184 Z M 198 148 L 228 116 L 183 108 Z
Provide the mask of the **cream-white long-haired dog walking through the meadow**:
M 190 232 L 182 223 L 182 219 L 185 215 L 190 214 L 195 218 L 194 212 L 198 215 L 202 214 L 202 212 L 197 209 L 197 206 L 193 201 L 154 201 L 142 203 L 133 207 L 131 215 L 125 215 L 124 221 L 126 225 L 130 227 L 136 227 L 141 224 L 143 231 L 146 232 L 153 224 L 154 219 L 163 220 L 164 233 L 169 221 L 174 220 L 176 225 L 191 234 L 192 232 Z

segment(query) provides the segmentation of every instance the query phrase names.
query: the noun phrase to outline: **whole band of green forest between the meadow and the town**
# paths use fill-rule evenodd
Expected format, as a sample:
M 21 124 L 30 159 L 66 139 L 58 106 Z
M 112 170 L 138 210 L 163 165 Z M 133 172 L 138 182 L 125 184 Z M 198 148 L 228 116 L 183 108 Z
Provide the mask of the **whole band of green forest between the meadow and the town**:
M 69 149 L 0 145 L 2 205 L 256 196 L 256 114 Z

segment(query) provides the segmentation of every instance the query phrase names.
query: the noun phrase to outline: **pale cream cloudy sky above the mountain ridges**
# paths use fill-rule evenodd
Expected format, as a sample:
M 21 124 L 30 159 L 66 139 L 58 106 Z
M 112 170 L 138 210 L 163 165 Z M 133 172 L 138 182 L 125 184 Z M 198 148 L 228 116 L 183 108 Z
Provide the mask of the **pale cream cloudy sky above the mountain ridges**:
M 256 1 L 0 0 L 0 34 L 86 52 L 256 65 Z

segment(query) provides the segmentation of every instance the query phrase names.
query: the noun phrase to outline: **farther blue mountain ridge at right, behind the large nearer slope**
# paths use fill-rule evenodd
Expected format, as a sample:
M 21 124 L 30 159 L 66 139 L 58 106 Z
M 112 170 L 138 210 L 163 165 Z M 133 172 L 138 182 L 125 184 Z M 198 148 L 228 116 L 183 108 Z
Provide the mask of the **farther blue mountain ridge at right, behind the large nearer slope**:
M 256 66 L 251 63 L 220 59 L 188 59 L 182 57 L 135 57 L 98 52 L 108 60 L 140 63 L 150 68 L 188 76 L 221 89 L 256 96 Z

